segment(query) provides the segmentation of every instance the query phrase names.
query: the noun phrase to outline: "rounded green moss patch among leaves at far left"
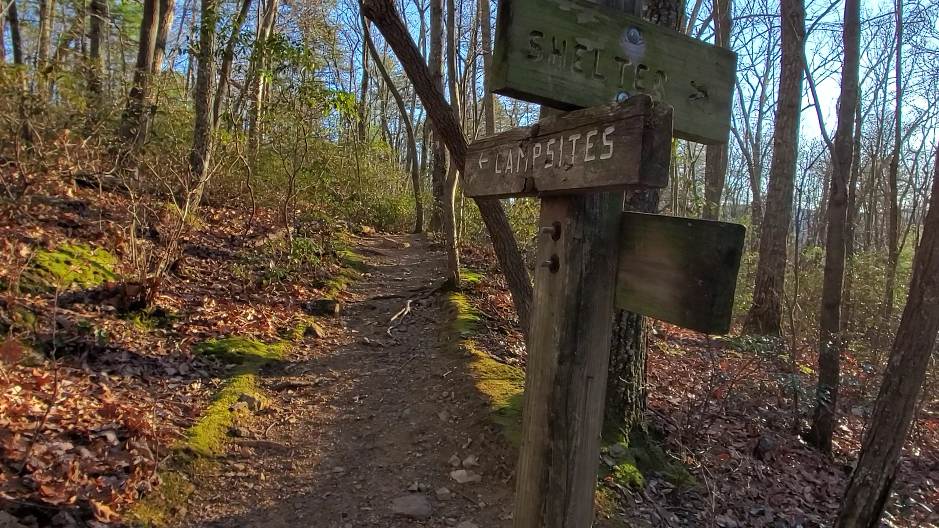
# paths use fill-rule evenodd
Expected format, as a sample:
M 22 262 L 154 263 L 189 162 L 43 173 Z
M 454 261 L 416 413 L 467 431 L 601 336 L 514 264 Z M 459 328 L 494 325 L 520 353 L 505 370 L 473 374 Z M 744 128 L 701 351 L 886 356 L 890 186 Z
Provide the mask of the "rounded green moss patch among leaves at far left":
M 38 251 L 23 272 L 20 287 L 49 291 L 56 287 L 93 287 L 117 279 L 117 259 L 103 249 L 87 244 L 63 244 L 53 251 Z

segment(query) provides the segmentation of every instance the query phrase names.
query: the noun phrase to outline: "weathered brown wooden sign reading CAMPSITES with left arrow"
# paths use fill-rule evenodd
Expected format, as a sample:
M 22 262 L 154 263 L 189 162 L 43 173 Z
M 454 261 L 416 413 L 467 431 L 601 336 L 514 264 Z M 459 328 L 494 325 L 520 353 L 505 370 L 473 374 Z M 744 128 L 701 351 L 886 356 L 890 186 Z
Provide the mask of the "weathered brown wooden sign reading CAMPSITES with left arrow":
M 665 187 L 671 121 L 669 104 L 639 95 L 478 139 L 467 152 L 464 193 L 506 198 Z

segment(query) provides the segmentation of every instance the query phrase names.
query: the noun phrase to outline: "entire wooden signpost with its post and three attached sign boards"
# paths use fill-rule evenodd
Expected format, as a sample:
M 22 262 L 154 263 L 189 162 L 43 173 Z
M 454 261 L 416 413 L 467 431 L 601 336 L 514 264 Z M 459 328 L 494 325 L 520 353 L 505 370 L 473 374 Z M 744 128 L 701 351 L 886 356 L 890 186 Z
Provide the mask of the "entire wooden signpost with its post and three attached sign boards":
M 743 226 L 626 213 L 622 191 L 668 184 L 673 136 L 727 142 L 736 58 L 586 0 L 500 0 L 496 35 L 493 91 L 571 111 L 464 167 L 467 196 L 541 197 L 514 527 L 588 528 L 614 304 L 730 326 Z

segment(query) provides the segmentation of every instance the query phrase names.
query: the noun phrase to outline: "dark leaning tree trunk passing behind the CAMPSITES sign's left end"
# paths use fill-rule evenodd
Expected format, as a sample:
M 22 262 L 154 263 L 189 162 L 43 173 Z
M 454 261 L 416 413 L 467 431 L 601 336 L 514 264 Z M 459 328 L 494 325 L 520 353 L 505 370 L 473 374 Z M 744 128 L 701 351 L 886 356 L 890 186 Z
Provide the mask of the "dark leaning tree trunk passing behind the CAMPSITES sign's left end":
M 364 0 L 362 12 L 377 25 L 385 40 L 392 46 L 398 61 L 421 98 L 427 117 L 436 125 L 437 140 L 442 141 L 450 150 L 453 163 L 456 163 L 457 167 L 463 167 L 466 163 L 467 141 L 460 130 L 454 109 L 444 98 L 443 90 L 439 88 L 430 70 L 424 65 L 421 53 L 408 33 L 408 27 L 394 8 L 393 0 Z M 525 267 L 525 260 L 518 251 L 512 226 L 509 225 L 499 200 L 476 200 L 476 205 L 512 293 L 519 325 L 527 336 L 531 320 L 531 279 Z

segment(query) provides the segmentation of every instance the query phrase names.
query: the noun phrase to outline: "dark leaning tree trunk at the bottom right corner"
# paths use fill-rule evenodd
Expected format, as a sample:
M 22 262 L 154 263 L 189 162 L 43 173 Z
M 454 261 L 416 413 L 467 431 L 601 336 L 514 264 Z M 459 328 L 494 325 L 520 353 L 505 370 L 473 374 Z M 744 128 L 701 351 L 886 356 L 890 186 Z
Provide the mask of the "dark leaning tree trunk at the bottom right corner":
M 835 528 L 879 525 L 939 333 L 939 150 L 910 294 Z

